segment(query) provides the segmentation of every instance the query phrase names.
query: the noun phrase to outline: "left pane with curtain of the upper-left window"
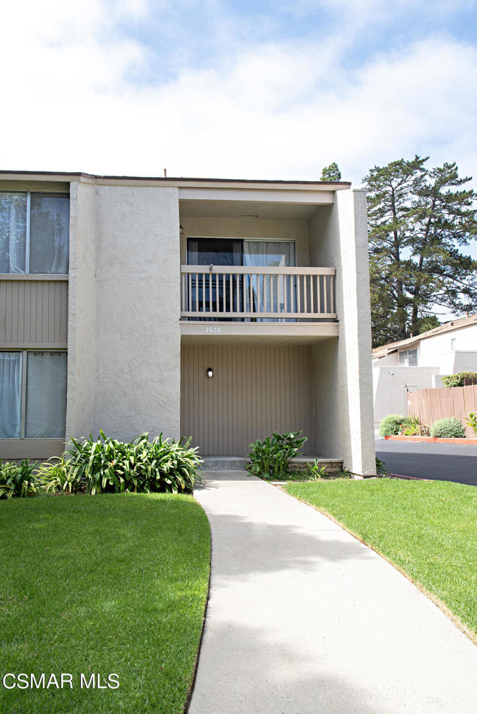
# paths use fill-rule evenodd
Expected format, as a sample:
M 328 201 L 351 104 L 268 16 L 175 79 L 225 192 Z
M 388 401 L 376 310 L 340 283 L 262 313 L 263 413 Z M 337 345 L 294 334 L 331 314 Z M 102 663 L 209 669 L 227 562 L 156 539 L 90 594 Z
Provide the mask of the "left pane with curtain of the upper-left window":
M 0 273 L 25 272 L 26 193 L 0 192 Z

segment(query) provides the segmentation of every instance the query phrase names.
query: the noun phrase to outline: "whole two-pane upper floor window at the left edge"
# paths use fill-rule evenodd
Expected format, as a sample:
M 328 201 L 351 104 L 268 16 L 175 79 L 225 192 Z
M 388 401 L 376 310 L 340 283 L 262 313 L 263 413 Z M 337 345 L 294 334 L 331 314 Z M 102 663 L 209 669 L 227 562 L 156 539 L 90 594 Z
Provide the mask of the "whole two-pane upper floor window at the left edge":
M 69 195 L 0 191 L 0 273 L 68 273 Z

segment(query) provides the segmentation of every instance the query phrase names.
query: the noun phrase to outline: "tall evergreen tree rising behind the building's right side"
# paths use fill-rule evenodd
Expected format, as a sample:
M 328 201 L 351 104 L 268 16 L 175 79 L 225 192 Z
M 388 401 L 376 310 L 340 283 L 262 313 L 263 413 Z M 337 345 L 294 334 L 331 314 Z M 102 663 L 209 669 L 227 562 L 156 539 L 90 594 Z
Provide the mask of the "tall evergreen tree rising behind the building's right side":
M 477 307 L 477 261 L 461 252 L 477 236 L 477 196 L 461 188 L 471 178 L 426 161 L 391 161 L 363 179 L 375 346 L 418 334 L 439 308 Z

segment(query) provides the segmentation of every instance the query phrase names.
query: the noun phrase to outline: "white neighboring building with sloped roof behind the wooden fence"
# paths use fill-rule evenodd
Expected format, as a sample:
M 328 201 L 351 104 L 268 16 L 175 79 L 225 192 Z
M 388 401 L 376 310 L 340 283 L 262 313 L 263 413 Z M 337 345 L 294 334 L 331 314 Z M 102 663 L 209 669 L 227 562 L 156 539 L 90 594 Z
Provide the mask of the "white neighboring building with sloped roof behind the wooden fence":
M 477 315 L 373 349 L 374 426 L 408 413 L 408 392 L 441 386 L 441 376 L 477 372 Z

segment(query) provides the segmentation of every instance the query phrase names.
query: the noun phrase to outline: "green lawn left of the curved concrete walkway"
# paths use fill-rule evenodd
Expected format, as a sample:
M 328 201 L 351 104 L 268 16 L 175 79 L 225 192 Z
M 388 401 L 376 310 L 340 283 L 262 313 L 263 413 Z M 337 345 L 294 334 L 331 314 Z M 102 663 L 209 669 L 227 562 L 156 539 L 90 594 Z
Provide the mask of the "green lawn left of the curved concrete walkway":
M 0 501 L 0 542 L 0 677 L 71 673 L 74 685 L 6 690 L 0 679 L 2 714 L 183 710 L 210 561 L 191 496 Z M 101 685 L 115 673 L 119 688 L 80 688 L 81 673 Z

